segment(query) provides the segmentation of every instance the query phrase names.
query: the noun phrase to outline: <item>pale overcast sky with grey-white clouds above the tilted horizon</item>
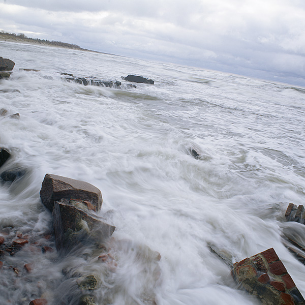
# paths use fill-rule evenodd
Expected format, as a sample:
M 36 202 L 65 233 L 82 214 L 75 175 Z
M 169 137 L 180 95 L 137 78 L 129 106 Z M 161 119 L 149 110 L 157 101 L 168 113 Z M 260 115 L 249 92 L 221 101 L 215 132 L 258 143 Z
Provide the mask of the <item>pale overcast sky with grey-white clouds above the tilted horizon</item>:
M 0 30 L 305 87 L 304 0 L 0 0 Z

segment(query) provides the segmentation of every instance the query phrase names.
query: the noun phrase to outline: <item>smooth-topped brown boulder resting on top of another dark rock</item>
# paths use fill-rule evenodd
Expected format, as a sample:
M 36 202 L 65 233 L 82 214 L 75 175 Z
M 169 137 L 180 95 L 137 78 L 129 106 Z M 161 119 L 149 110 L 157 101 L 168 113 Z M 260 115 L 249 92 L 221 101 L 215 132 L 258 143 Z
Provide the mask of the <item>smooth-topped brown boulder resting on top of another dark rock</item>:
M 95 211 L 99 211 L 103 198 L 101 191 L 88 182 L 67 177 L 46 174 L 40 190 L 42 203 L 50 211 L 53 210 L 54 201 L 60 199 L 78 199 L 88 201 Z

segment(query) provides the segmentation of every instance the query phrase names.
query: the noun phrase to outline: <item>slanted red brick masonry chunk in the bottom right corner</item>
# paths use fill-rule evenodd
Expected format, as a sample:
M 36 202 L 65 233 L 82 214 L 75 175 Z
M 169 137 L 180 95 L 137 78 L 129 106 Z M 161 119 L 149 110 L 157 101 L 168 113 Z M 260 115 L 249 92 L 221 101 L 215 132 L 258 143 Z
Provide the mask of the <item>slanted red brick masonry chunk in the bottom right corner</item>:
M 234 280 L 264 305 L 304 305 L 284 264 L 273 248 L 235 263 L 231 271 Z

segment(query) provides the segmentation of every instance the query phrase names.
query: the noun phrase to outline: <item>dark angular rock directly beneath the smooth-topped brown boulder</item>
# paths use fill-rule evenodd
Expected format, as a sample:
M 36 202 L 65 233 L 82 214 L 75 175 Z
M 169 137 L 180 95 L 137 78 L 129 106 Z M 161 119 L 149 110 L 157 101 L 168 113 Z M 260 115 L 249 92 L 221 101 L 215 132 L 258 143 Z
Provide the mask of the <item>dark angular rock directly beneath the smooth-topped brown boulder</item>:
M 54 203 L 53 227 L 57 250 L 102 243 L 115 230 L 83 210 L 64 202 Z

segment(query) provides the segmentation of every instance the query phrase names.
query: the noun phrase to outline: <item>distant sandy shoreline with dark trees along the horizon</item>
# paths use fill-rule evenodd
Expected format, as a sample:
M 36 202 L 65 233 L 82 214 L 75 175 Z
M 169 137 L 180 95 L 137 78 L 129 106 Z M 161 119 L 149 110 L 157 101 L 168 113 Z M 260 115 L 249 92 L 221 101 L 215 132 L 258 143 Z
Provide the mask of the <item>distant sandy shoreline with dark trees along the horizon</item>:
M 24 44 L 32 44 L 32 45 L 39 45 L 39 46 L 45 46 L 45 47 L 55 47 L 55 48 L 65 48 L 65 49 L 71 49 L 71 50 L 79 50 L 79 51 L 87 51 L 87 52 L 94 52 L 94 53 L 102 53 L 107 54 L 99 51 L 93 51 L 88 49 L 83 49 L 80 46 L 72 45 L 68 43 L 62 43 L 62 42 L 52 42 L 52 41 L 46 41 L 41 39 L 33 39 L 33 38 L 27 38 L 27 37 L 20 37 L 20 36 L 14 36 L 9 33 L 0 33 L 0 41 L 7 41 L 7 42 L 18 42 L 18 43 L 24 43 Z

